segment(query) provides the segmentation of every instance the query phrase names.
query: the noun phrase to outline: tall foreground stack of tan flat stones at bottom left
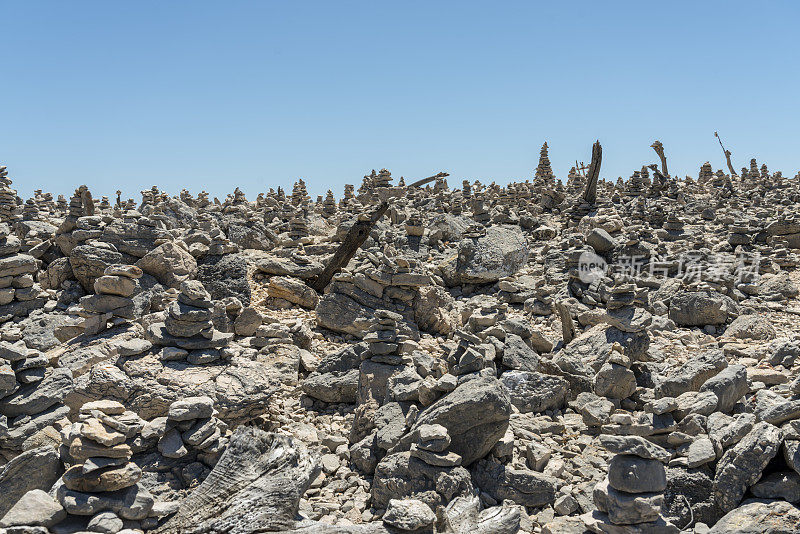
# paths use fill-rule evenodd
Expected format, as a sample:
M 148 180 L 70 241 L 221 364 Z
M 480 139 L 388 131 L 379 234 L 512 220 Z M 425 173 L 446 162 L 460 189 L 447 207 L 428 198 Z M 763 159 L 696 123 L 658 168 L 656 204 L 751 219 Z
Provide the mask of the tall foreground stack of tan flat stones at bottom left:
M 70 515 L 111 512 L 118 520 L 146 519 L 154 499 L 139 483 L 142 470 L 130 461 L 130 442 L 145 422 L 110 400 L 84 404 L 78 419 L 62 431 L 71 466 L 56 484 L 58 502 Z

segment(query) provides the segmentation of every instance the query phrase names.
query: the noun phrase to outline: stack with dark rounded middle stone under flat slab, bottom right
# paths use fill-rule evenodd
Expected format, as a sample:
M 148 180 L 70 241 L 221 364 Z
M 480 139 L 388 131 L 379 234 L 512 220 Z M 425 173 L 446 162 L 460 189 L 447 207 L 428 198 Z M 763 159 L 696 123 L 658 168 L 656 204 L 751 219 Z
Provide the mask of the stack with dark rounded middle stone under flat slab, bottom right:
M 664 467 L 672 454 L 640 436 L 601 435 L 615 456 L 608 476 L 594 488 L 597 510 L 582 519 L 592 532 L 678 534 L 680 529 L 660 515 L 667 487 Z

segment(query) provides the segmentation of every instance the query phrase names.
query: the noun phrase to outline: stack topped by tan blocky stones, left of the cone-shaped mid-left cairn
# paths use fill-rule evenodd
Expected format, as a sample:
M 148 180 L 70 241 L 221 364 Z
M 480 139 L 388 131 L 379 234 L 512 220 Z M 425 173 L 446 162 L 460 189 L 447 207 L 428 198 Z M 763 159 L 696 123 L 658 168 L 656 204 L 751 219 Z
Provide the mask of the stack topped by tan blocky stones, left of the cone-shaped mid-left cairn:
M 81 298 L 86 315 L 83 323 L 87 335 L 106 329 L 108 321 L 115 317 L 123 321 L 133 320 L 136 313 L 133 295 L 144 272 L 135 265 L 109 265 L 103 275 L 94 281 L 94 295 Z

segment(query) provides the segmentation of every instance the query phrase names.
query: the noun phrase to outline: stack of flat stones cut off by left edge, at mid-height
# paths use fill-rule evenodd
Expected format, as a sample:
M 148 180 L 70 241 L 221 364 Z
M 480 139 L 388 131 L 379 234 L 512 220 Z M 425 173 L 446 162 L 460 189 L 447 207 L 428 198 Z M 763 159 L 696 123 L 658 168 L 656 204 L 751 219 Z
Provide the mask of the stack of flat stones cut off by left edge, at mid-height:
M 3 311 L 3 307 L 14 302 L 32 302 L 42 290 L 34 280 L 36 259 L 21 254 L 21 247 L 22 242 L 11 234 L 8 224 L 0 223 L 0 317 L 12 313 L 10 309 Z M 33 303 L 31 306 L 36 307 Z

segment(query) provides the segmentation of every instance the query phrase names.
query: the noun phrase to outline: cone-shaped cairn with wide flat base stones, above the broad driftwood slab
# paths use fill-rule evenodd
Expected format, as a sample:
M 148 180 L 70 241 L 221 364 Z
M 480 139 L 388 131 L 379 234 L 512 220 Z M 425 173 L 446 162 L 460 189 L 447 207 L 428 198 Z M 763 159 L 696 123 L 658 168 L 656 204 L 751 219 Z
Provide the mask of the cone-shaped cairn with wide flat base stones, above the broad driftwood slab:
M 154 323 L 148 329 L 150 341 L 156 345 L 177 347 L 187 351 L 191 363 L 209 363 L 219 359 L 217 351 L 228 344 L 233 333 L 220 332 L 211 321 L 211 295 L 198 280 L 181 282 L 178 300 L 170 304 L 163 323 Z

